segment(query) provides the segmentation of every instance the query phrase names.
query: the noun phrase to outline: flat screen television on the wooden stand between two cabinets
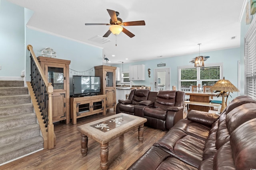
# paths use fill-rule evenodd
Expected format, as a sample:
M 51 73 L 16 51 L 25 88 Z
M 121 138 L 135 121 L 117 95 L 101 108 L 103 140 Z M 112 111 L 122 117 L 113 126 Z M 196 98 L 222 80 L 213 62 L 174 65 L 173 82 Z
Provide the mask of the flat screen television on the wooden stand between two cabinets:
M 99 94 L 100 76 L 73 76 L 73 96 Z

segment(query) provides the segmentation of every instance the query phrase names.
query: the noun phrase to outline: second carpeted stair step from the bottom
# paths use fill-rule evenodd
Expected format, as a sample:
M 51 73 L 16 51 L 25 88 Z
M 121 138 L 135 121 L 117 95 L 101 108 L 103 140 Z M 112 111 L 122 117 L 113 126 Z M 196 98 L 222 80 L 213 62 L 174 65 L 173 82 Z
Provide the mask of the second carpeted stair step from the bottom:
M 22 127 L 13 128 L 0 132 L 0 147 L 10 145 L 12 143 L 24 141 L 32 137 L 40 135 L 40 127 L 38 124 L 30 124 Z

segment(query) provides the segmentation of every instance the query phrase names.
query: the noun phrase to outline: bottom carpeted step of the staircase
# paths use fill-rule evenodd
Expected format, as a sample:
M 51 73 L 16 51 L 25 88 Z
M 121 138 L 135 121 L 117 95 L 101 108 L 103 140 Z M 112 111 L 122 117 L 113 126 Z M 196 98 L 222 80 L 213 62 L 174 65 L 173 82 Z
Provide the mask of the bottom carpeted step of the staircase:
M 44 140 L 41 136 L 0 147 L 0 164 L 43 148 Z

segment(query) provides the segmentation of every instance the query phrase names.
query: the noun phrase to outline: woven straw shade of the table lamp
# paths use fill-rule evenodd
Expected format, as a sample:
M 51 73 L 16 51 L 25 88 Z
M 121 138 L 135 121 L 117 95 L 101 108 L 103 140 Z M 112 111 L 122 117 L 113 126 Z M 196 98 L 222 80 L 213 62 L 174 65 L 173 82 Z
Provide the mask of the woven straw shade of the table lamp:
M 211 90 L 224 91 L 224 92 L 239 92 L 238 88 L 234 86 L 229 80 L 218 80 L 212 87 Z

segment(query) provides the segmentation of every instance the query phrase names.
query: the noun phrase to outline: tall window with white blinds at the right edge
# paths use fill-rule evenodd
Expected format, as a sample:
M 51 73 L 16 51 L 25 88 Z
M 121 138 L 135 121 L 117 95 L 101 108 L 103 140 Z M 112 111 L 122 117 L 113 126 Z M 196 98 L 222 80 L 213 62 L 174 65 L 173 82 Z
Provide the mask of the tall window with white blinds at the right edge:
M 245 36 L 245 94 L 256 100 L 256 19 Z

